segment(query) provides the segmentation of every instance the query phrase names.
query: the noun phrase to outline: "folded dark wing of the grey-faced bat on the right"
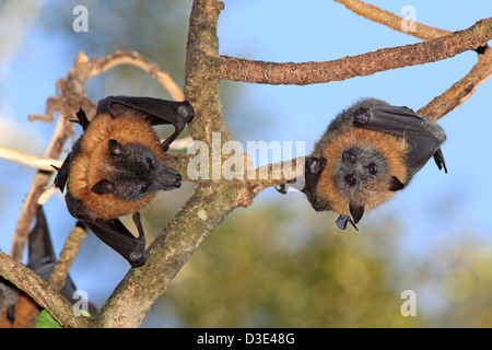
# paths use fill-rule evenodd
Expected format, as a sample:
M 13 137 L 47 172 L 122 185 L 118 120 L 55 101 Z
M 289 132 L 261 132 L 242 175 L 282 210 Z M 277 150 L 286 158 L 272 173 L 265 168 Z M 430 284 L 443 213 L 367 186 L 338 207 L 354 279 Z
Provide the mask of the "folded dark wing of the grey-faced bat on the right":
M 425 120 L 408 107 L 376 105 L 371 108 L 361 107 L 355 110 L 353 125 L 358 128 L 382 131 L 403 137 L 411 150 L 406 162 L 411 177 L 434 156 L 438 168 L 444 162 L 441 144 L 446 140 L 443 129 L 435 122 Z

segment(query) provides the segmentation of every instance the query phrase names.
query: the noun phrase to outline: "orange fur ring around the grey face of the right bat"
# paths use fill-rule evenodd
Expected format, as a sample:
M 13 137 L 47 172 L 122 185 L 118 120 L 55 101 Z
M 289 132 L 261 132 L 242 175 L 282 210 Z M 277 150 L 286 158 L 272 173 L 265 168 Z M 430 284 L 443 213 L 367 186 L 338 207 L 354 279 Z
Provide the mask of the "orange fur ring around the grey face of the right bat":
M 335 164 L 340 161 L 343 151 L 351 147 L 373 148 L 386 155 L 389 166 L 389 172 L 385 174 L 384 180 L 365 182 L 364 188 L 356 198 L 348 198 L 337 188 L 332 173 Z M 407 151 L 408 147 L 405 139 L 401 138 L 397 139 L 387 133 L 356 128 L 344 131 L 323 148 L 323 155 L 327 160 L 327 164 L 319 177 L 316 196 L 329 203 L 331 209 L 340 214 L 350 215 L 349 205 L 351 201 L 364 206 L 365 212 L 367 212 L 394 196 L 395 192 L 388 190 L 393 176 L 406 184 L 405 154 Z

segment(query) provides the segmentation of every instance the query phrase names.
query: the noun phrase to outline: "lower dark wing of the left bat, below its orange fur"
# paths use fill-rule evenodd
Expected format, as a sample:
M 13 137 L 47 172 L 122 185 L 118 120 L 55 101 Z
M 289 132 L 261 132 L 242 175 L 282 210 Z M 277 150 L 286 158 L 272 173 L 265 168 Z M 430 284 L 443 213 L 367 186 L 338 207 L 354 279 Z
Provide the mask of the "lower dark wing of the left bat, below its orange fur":
M 138 212 L 133 214 L 133 221 L 139 231 L 139 237 L 136 237 L 119 219 L 91 220 L 86 215 L 86 208 L 81 200 L 74 199 L 70 194 L 67 194 L 65 199 L 72 217 L 81 221 L 101 241 L 119 253 L 132 267 L 145 264 L 145 235 Z

